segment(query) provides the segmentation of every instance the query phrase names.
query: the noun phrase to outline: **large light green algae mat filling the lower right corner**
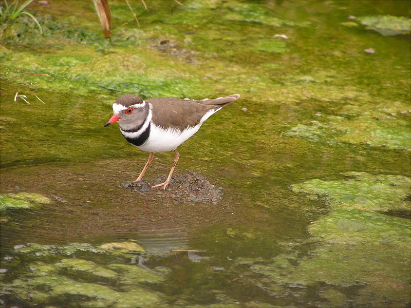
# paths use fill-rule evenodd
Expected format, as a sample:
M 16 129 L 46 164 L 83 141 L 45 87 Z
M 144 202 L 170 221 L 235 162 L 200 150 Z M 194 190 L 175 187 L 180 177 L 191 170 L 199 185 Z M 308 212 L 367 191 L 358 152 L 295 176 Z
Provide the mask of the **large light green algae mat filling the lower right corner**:
M 409 295 L 410 222 L 405 218 L 375 213 L 373 210 L 410 209 L 410 179 L 402 176 L 346 172 L 353 179 L 310 180 L 291 186 L 309 198 L 324 197 L 331 212 L 314 221 L 308 231 L 316 247 L 308 255 L 283 253 L 270 261 L 238 259 L 249 266 L 247 276 L 256 286 L 276 297 L 286 288 L 297 287 L 299 297 L 315 283 L 333 286 L 317 294 L 320 307 L 358 306 L 405 307 Z M 378 252 L 378 254 L 376 253 Z M 354 271 L 352 269 L 355 269 Z M 356 287 L 357 296 L 344 290 Z M 321 290 L 321 288 L 320 288 Z

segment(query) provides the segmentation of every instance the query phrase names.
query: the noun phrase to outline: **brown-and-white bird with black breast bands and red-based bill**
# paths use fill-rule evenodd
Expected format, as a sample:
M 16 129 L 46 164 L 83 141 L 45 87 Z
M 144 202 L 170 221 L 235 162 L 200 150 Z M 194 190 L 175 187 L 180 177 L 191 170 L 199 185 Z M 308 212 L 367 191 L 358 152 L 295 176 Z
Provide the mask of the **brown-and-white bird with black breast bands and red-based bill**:
M 193 136 L 212 114 L 236 101 L 239 94 L 201 101 L 176 98 L 142 99 L 125 94 L 113 104 L 113 116 L 104 127 L 118 122 L 123 137 L 140 150 L 149 152 L 147 163 L 133 184 L 140 182 L 154 159 L 154 153 L 174 151 L 174 161 L 165 182 L 152 186 L 166 189 L 180 153 L 177 147 Z

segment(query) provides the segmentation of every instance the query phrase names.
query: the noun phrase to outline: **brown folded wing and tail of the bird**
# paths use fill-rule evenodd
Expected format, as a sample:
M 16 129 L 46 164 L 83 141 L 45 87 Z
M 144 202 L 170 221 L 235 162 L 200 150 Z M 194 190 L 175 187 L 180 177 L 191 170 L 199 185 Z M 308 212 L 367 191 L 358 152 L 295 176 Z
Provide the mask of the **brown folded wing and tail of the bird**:
M 238 94 L 207 101 L 154 98 L 146 101 L 153 106 L 153 123 L 183 130 L 195 126 L 207 111 L 224 107 L 239 98 Z M 161 124 L 163 123 L 163 124 Z M 166 124 L 165 124 L 166 123 Z

